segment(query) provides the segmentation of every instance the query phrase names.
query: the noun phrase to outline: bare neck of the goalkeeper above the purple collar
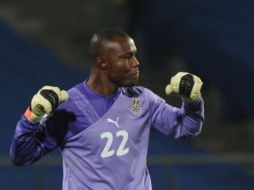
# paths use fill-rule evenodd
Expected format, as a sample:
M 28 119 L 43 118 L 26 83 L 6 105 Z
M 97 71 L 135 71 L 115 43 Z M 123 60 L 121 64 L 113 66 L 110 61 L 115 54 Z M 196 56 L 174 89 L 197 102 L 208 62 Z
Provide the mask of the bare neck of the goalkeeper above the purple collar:
M 111 96 L 115 94 L 118 89 L 118 86 L 109 81 L 104 73 L 96 74 L 91 72 L 87 85 L 92 91 L 103 96 Z

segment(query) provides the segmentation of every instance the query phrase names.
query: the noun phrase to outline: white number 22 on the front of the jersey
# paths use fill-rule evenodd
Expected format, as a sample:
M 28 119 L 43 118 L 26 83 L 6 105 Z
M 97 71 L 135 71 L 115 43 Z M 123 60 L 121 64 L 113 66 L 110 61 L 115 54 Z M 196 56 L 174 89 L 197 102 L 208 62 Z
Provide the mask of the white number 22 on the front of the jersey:
M 116 132 L 116 137 L 122 137 L 122 141 L 116 151 L 116 155 L 117 156 L 123 156 L 125 154 L 127 154 L 129 152 L 129 148 L 126 148 L 125 145 L 128 141 L 128 133 L 125 130 L 121 130 L 121 131 L 117 131 Z M 111 148 L 111 145 L 113 143 L 113 135 L 111 132 L 104 132 L 101 134 L 101 139 L 107 139 L 106 145 L 103 149 L 103 151 L 101 152 L 101 157 L 102 158 L 107 158 L 107 157 L 111 157 L 115 154 L 115 150 Z

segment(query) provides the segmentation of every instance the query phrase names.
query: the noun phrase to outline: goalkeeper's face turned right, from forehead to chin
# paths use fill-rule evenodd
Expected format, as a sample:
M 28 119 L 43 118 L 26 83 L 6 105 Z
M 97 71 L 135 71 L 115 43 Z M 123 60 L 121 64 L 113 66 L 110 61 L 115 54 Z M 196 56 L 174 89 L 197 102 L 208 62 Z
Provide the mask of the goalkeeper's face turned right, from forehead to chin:
M 133 39 L 117 37 L 109 46 L 106 56 L 109 80 L 118 86 L 137 84 L 139 62 L 135 56 L 137 48 Z

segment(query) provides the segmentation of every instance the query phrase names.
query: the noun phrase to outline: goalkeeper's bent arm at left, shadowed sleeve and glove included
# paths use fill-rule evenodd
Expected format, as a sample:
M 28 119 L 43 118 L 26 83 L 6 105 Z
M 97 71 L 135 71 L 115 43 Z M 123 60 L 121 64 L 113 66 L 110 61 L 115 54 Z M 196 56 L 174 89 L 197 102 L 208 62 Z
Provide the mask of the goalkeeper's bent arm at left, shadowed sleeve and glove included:
M 44 86 L 33 96 L 29 108 L 17 123 L 11 142 L 10 157 L 14 165 L 31 164 L 57 147 L 57 138 L 50 135 L 54 134 L 52 123 L 55 122 L 46 121 L 41 124 L 40 121 L 45 114 L 50 115 L 67 99 L 66 91 L 52 86 Z

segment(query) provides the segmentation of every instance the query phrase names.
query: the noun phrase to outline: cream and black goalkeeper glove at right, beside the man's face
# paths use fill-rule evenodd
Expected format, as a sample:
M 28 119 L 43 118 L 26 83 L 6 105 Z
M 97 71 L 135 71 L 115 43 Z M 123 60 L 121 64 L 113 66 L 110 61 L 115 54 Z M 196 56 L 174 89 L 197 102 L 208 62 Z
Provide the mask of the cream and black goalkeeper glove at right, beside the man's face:
M 173 76 L 165 88 L 167 95 L 175 94 L 183 98 L 185 102 L 196 102 L 201 98 L 203 82 L 196 75 L 179 72 Z

